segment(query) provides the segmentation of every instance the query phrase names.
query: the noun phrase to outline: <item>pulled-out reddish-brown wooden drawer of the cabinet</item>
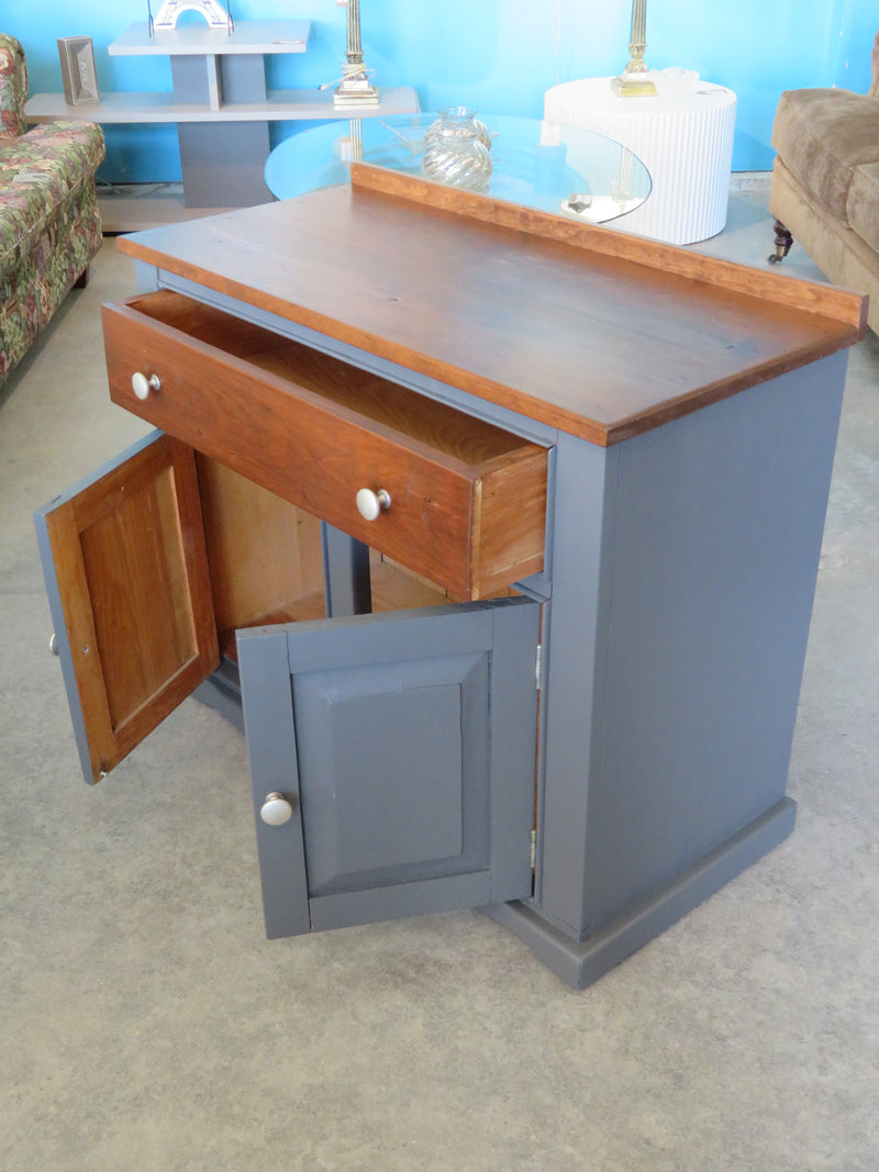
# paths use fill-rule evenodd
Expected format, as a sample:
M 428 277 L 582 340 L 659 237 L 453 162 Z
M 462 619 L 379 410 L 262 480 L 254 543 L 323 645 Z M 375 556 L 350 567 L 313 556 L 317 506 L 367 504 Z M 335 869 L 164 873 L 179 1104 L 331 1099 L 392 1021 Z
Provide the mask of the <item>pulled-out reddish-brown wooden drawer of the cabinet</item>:
M 543 568 L 545 449 L 176 293 L 103 313 L 135 415 L 462 598 Z M 363 488 L 390 495 L 373 522 Z

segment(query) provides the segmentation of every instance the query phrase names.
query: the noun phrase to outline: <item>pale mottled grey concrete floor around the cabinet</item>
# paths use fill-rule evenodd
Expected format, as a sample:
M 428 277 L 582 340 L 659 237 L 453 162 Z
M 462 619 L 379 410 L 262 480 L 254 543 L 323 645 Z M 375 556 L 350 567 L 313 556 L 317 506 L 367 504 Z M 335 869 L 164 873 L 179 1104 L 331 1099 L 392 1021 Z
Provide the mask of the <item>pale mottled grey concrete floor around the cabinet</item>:
M 707 251 L 764 264 L 765 190 Z M 144 430 L 107 240 L 0 414 L 0 1167 L 879 1167 L 879 341 L 851 352 L 782 846 L 584 993 L 473 912 L 266 941 L 243 740 L 81 781 L 30 513 Z M 790 272 L 811 275 L 802 253 Z

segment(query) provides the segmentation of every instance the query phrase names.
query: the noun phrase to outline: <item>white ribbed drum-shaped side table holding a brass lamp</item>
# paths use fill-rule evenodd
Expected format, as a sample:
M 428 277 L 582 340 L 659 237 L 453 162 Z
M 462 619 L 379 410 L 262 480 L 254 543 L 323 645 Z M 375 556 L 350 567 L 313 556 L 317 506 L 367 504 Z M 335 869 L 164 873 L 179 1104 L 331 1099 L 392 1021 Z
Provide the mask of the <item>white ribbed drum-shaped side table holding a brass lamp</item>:
M 650 172 L 649 198 L 615 229 L 668 244 L 722 231 L 736 127 L 731 89 L 700 81 L 684 97 L 620 97 L 609 77 L 588 77 L 547 90 L 544 117 L 614 138 Z

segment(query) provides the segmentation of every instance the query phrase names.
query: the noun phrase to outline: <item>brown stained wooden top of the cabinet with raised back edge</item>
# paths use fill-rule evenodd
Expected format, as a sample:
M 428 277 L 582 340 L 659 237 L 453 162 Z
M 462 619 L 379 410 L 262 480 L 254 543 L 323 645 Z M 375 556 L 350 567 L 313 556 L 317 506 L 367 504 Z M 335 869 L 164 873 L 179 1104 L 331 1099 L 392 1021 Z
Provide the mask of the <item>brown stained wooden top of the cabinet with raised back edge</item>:
M 865 331 L 853 293 L 364 164 L 118 247 L 601 445 Z

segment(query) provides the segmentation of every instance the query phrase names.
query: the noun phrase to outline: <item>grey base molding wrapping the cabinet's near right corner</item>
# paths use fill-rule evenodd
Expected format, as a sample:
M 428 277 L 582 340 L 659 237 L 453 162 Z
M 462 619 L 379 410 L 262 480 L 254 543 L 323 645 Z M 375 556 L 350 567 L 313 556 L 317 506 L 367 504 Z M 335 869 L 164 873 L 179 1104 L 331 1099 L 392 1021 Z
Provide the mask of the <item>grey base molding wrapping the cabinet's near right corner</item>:
M 586 940 L 572 940 L 527 904 L 495 904 L 483 913 L 503 924 L 547 968 L 585 989 L 763 858 L 791 833 L 797 805 L 783 798 L 652 897 Z

